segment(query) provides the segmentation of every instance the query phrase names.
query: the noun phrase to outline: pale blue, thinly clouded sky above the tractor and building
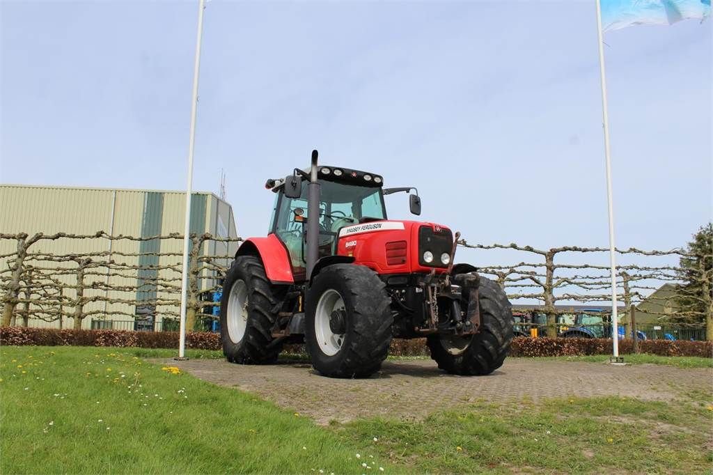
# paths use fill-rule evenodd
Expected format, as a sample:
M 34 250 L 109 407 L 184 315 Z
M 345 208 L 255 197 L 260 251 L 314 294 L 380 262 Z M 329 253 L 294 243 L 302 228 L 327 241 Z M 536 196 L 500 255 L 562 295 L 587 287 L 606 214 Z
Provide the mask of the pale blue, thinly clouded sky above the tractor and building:
M 0 13 L 0 182 L 185 187 L 195 2 Z M 617 244 L 677 247 L 712 215 L 711 22 L 605 41 Z M 471 242 L 607 245 L 593 1 L 210 1 L 196 140 L 243 236 L 318 148 Z

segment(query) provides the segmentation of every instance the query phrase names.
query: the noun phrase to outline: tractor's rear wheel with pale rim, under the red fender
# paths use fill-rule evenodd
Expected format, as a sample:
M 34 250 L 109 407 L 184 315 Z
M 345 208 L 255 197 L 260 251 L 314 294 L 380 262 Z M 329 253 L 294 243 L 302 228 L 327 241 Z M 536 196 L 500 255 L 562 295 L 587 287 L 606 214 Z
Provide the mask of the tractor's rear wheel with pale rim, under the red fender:
M 231 363 L 267 364 L 277 360 L 282 341 L 272 338 L 273 312 L 284 290 L 270 284 L 258 257 L 235 258 L 220 298 L 220 337 Z

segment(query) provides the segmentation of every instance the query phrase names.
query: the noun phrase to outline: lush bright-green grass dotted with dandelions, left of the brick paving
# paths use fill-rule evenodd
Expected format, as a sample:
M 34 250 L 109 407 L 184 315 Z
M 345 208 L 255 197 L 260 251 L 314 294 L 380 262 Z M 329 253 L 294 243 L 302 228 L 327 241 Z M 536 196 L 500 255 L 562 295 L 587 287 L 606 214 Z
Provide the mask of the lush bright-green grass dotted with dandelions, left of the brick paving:
M 363 444 L 137 351 L 1 348 L 0 472 L 361 473 Z

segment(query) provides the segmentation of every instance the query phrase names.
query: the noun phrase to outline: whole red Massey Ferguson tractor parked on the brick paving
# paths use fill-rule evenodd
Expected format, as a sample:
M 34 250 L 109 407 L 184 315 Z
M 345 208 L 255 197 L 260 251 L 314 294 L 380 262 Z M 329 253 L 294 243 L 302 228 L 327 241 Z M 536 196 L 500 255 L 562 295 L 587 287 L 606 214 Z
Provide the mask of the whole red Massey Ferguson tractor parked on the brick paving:
M 223 282 L 220 324 L 227 360 L 275 362 L 285 343 L 305 342 L 312 365 L 329 377 L 369 377 L 391 339 L 426 337 L 438 367 L 489 374 L 513 339 L 510 302 L 476 267 L 453 265 L 451 230 L 386 219 L 374 173 L 317 165 L 275 192 L 270 233 L 251 237 Z M 411 213 L 421 201 L 410 196 Z

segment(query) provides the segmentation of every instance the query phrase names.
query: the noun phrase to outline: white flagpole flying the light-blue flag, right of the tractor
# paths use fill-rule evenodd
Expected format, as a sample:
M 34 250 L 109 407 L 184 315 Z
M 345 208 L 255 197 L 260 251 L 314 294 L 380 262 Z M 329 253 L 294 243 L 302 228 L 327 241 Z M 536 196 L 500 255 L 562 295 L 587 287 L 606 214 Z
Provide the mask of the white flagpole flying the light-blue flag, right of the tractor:
M 599 71 L 602 82 L 602 121 L 604 123 L 604 155 L 607 164 L 607 205 L 609 208 L 609 261 L 612 277 L 612 342 L 615 358 L 619 357 L 619 325 L 617 317 L 617 264 L 614 240 L 614 206 L 612 205 L 612 160 L 609 153 L 609 114 L 607 112 L 607 80 L 604 70 L 604 39 L 602 39 L 602 6 L 597 0 L 597 35 L 599 36 Z

